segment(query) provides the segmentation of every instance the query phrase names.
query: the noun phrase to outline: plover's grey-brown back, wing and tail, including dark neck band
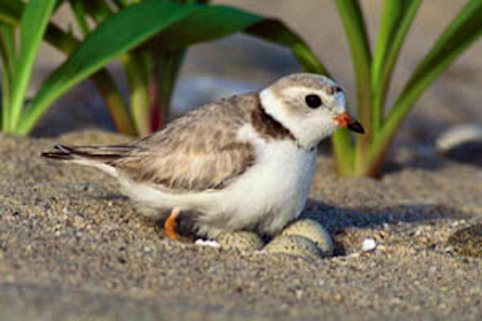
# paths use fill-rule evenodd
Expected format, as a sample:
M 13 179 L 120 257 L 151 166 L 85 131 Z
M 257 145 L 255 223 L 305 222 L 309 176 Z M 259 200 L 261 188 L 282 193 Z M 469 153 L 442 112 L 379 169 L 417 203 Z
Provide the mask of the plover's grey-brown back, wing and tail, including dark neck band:
M 173 192 L 221 188 L 255 161 L 254 147 L 237 139 L 249 122 L 266 139 L 295 137 L 261 107 L 257 94 L 234 95 L 174 120 L 164 130 L 126 145 L 67 147 L 42 155 L 106 163 L 134 181 Z

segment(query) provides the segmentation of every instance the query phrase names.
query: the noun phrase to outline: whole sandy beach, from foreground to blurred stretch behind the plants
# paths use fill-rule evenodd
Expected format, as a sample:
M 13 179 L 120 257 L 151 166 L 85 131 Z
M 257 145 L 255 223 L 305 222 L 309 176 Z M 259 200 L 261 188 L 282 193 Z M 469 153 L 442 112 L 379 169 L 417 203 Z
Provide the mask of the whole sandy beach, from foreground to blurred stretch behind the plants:
M 218 2 L 285 19 L 354 104 L 348 47 L 332 1 Z M 362 1 L 370 30 L 380 3 Z M 424 2 L 395 92 L 461 3 Z M 127 140 L 100 130 L 67 133 L 112 129 L 102 100 L 83 83 L 55 103 L 37 138 L 0 134 L 0 320 L 481 320 L 482 158 L 468 154 L 456 162 L 434 147 L 450 126 L 482 123 L 481 56 L 479 42 L 424 95 L 381 180 L 337 177 L 332 158 L 320 155 L 303 215 L 335 239 L 335 256 L 324 259 L 166 240 L 107 175 L 41 159 L 56 142 Z M 32 91 L 61 59 L 44 48 Z M 226 80 L 200 98 L 193 94 L 194 107 L 295 70 L 287 52 L 246 37 L 196 46 L 174 105 L 185 107 L 183 81 Z M 477 227 L 472 235 L 460 232 Z M 366 238 L 376 248 L 362 253 Z

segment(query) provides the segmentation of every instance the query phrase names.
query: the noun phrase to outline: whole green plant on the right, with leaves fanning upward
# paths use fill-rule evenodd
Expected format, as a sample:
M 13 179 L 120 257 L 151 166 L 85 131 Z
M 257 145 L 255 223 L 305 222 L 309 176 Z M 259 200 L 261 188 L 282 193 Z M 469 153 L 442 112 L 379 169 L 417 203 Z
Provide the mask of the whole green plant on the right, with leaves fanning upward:
M 468 0 L 415 68 L 390 108 L 386 98 L 403 41 L 422 0 L 385 0 L 378 38 L 370 48 L 358 0 L 335 0 L 345 27 L 357 84 L 358 118 L 366 134 L 353 142 L 346 130 L 333 136 L 339 174 L 381 174 L 388 147 L 415 102 L 433 81 L 482 34 L 482 1 Z M 320 71 L 321 72 L 321 71 Z

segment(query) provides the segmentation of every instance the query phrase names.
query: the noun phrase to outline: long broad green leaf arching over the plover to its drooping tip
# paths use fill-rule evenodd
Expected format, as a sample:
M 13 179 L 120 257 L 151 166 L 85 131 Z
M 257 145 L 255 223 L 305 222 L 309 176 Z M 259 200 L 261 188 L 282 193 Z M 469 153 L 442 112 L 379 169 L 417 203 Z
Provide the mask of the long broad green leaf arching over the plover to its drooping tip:
M 19 133 L 30 131 L 40 115 L 61 94 L 127 51 L 138 48 L 140 51 L 176 52 L 193 43 L 243 31 L 262 21 L 260 16 L 227 6 L 179 4 L 168 0 L 144 0 L 130 6 L 97 27 L 43 83 L 26 112 Z M 277 28 L 280 34 L 284 32 L 283 37 L 265 38 L 288 39 L 278 41 L 289 44 L 298 56 L 304 56 L 307 66 L 311 64 L 318 71 L 325 70 L 294 33 L 280 23 Z M 250 32 L 261 33 L 256 28 Z M 158 34 L 155 40 L 145 43 L 155 34 Z

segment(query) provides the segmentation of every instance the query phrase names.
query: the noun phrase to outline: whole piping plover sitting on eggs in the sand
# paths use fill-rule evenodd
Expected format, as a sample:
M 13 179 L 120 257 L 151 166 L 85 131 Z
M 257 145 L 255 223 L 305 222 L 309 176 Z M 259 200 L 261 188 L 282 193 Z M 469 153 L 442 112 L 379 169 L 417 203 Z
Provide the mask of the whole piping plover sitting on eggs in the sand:
M 317 145 L 338 127 L 363 133 L 335 81 L 300 73 L 207 104 L 125 145 L 57 145 L 42 155 L 116 177 L 139 213 L 165 219 L 171 239 L 181 212 L 192 213 L 201 232 L 272 235 L 301 214 Z

